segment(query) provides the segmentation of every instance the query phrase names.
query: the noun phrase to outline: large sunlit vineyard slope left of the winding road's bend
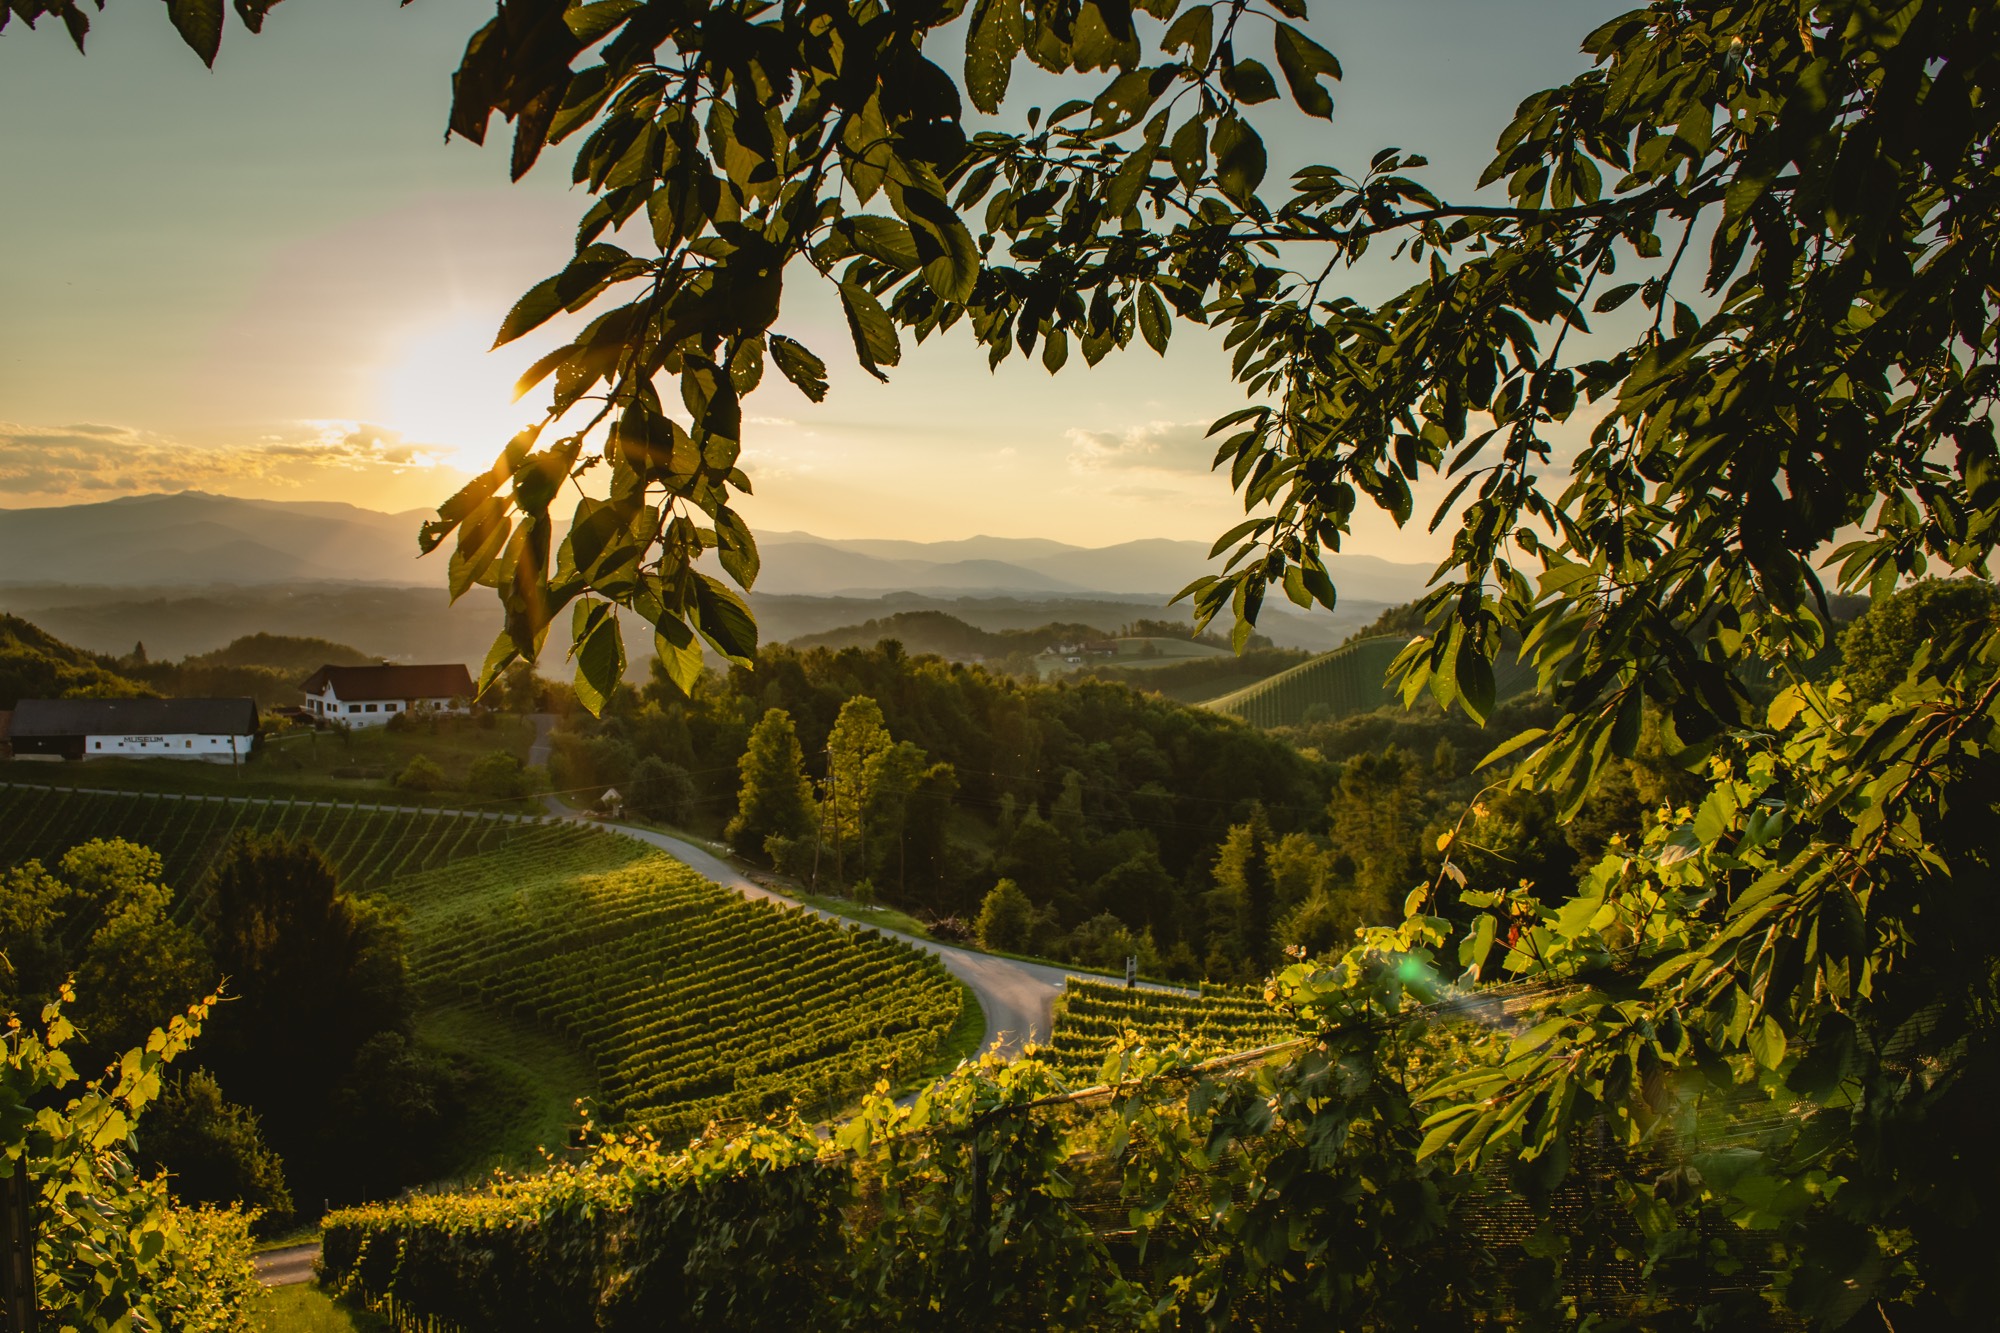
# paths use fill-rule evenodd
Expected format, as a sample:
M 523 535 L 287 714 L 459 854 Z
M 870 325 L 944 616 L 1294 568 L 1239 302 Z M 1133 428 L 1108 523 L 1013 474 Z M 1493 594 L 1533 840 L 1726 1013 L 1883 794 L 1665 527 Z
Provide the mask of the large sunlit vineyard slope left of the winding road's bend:
M 558 837 L 568 835 L 568 837 Z M 546 829 L 390 887 L 432 1001 L 528 1019 L 594 1061 L 604 1111 L 662 1135 L 918 1075 L 964 1005 L 902 943 L 748 903 L 662 853 Z

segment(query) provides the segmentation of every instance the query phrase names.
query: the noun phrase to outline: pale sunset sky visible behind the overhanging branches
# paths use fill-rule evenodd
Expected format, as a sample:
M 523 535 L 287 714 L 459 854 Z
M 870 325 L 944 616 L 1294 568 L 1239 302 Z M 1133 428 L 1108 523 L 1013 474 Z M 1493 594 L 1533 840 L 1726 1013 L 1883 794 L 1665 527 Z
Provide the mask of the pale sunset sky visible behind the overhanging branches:
M 1578 40 L 1624 8 L 1322 0 L 1334 120 L 1266 116 L 1268 182 L 1396 144 L 1464 194 L 1514 104 L 1584 68 Z M 160 4 L 94 12 L 88 56 L 48 20 L 0 32 L 0 506 L 196 488 L 430 508 L 490 462 L 534 416 L 514 376 L 554 346 L 488 354 L 492 330 L 588 206 L 566 148 L 508 184 L 506 132 L 444 140 L 450 70 L 490 10 L 288 0 L 262 36 L 232 18 L 214 70 Z M 1408 278 L 1346 280 L 1380 298 Z M 1204 432 L 1244 398 L 1204 330 L 1058 376 L 988 372 L 946 336 L 878 384 L 822 290 L 788 284 L 778 328 L 826 356 L 832 392 L 772 374 L 748 402 L 754 526 L 1102 546 L 1240 518 Z M 1444 538 L 1364 518 L 1350 548 L 1436 558 Z

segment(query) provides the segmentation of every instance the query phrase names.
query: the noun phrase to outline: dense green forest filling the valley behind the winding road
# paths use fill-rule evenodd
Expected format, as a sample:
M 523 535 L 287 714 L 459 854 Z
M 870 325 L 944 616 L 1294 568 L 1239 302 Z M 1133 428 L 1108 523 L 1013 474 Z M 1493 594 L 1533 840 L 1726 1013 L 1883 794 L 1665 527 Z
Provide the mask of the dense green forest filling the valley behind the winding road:
M 1480 731 L 1418 709 L 1280 737 L 884 642 L 768 648 L 692 699 L 622 691 L 556 733 L 550 769 L 992 949 L 1248 981 L 1396 919 L 1476 801 L 1474 761 L 1540 721 L 1506 709 Z M 1480 825 L 1496 865 L 1558 889 L 1592 851 L 1540 797 L 1488 797 Z

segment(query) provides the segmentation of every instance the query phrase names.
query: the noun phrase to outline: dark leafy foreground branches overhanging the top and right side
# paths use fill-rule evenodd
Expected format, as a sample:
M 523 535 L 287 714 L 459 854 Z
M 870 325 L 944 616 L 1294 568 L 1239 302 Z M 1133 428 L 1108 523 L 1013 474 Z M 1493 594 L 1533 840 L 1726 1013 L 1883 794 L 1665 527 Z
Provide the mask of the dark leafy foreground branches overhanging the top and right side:
M 1302 6 L 1278 8 L 1256 30 L 1294 104 L 1328 114 L 1338 62 L 1288 22 Z M 570 16 L 570 44 L 488 28 L 454 114 L 474 136 L 512 116 L 522 170 L 582 136 L 578 256 L 502 338 L 612 294 L 530 372 L 554 374 L 554 406 L 602 384 L 608 498 L 580 502 L 552 550 L 552 478 L 584 464 L 584 436 L 562 426 L 538 448 L 530 432 L 426 538 L 456 532 L 460 580 L 500 588 L 496 660 L 582 602 L 588 675 L 602 598 L 652 618 L 682 675 L 690 624 L 746 656 L 736 602 L 692 564 L 706 548 L 742 586 L 756 574 L 728 500 L 764 362 L 824 392 L 818 356 L 774 332 L 788 272 L 838 286 L 858 360 L 884 376 L 904 332 L 964 328 L 994 360 L 1040 350 L 1056 370 L 1072 346 L 1096 362 L 1134 334 L 1160 348 L 1176 322 L 1218 328 L 1252 398 L 1216 426 L 1248 518 L 1216 546 L 1228 566 L 1188 588 L 1204 616 L 1234 614 L 1240 640 L 1272 586 L 1330 604 L 1326 552 L 1356 508 L 1408 520 L 1414 482 L 1444 476 L 1452 558 L 1400 660 L 1406 699 L 1484 719 L 1518 644 L 1554 717 L 1520 737 L 1516 783 L 1564 813 L 1638 753 L 1648 713 L 1668 757 L 1710 765 L 1696 807 L 1656 821 L 1644 855 L 1614 849 L 1570 901 L 1448 901 L 1442 871 L 1412 895 L 1384 957 L 1430 957 L 1462 929 L 1468 977 L 1578 987 L 1496 1035 L 1490 1061 L 1414 1091 L 1418 1157 L 1514 1161 L 1534 1195 L 1600 1117 L 1642 1145 L 1702 1105 L 1698 1087 L 1798 1097 L 1750 1157 L 1626 1185 L 1658 1271 L 1728 1219 L 1770 1229 L 1776 1299 L 1820 1323 L 1966 1309 L 1976 1265 L 1944 1219 L 1976 1207 L 1972 1173 L 1936 1155 L 1964 1139 L 1934 1127 L 1992 1079 L 1992 951 L 1958 923 L 1986 873 L 1964 821 L 1994 791 L 2000 634 L 1934 636 L 1872 705 L 1808 669 L 1828 582 L 1882 600 L 1912 574 L 1984 576 L 2000 532 L 2000 6 L 1634 10 L 1584 38 L 1590 70 L 1522 102 L 1486 172 L 1496 202 L 1438 196 L 1394 148 L 1268 190 L 1248 108 L 1278 80 L 1236 0 Z M 1000 110 L 1020 54 L 1086 96 L 968 134 L 924 56 L 962 16 L 978 110 Z M 658 256 L 604 240 L 640 210 Z M 1412 284 L 1342 294 L 1342 268 L 1384 248 Z M 690 426 L 666 420 L 660 372 Z M 1564 432 L 1584 446 L 1558 452 Z M 1854 528 L 1828 580 L 1820 560 Z M 1402 963 L 1316 977 L 1288 985 L 1326 1021 L 1406 997 Z

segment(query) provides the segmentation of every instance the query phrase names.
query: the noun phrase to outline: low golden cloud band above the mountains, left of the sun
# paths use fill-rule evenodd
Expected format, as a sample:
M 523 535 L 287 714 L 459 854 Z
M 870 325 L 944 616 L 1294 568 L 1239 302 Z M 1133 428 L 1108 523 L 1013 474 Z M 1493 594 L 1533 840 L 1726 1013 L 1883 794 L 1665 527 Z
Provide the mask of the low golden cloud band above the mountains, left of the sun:
M 342 420 L 294 422 L 224 446 L 96 422 L 0 422 L 0 494 L 62 502 L 162 490 L 306 488 L 330 474 L 428 470 L 448 452 Z

